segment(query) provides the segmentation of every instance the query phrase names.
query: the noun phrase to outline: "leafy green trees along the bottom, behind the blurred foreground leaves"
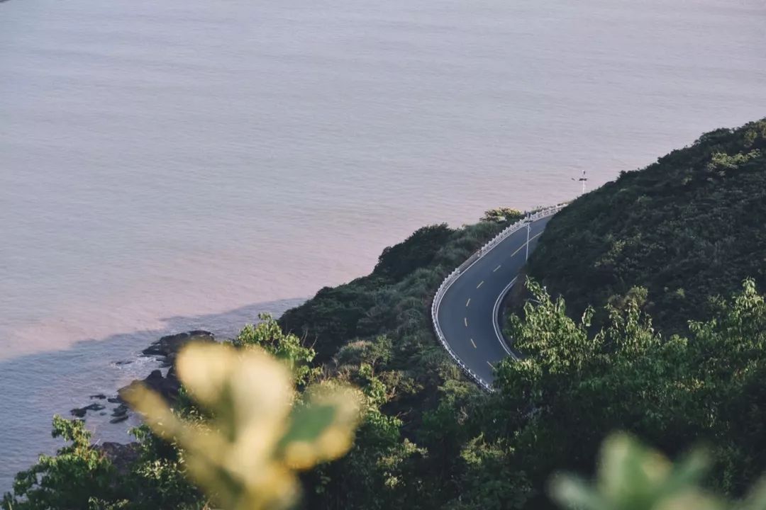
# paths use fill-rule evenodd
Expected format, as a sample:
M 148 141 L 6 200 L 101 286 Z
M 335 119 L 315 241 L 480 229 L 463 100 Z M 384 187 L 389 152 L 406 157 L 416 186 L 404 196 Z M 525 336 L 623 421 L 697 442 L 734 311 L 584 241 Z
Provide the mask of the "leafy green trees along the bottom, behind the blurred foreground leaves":
M 591 310 L 572 320 L 563 299 L 529 287 L 535 304 L 510 327 L 528 356 L 501 363 L 493 395 L 445 378 L 417 420 L 393 416 L 401 381 L 390 369 L 393 343 L 379 336 L 344 348 L 351 352 L 333 377 L 358 383 L 367 408 L 349 455 L 306 473 L 306 508 L 548 508 L 552 473 L 590 472 L 601 438 L 615 429 L 671 453 L 711 445 L 707 485 L 725 495 L 742 495 L 764 472 L 766 302 L 752 281 L 719 301 L 711 320 L 669 339 L 637 301 L 607 307 L 607 326 L 594 334 Z M 246 330 L 240 342 L 250 339 L 270 352 L 293 352 L 288 359 L 297 365 L 312 356 L 273 322 Z M 329 377 L 293 373 L 298 383 Z M 193 408 L 180 411 L 195 418 Z M 74 444 L 22 473 L 18 497 L 6 497 L 5 508 L 204 508 L 175 444 L 142 428 L 139 460 L 118 473 L 88 445 L 80 424 L 56 424 Z

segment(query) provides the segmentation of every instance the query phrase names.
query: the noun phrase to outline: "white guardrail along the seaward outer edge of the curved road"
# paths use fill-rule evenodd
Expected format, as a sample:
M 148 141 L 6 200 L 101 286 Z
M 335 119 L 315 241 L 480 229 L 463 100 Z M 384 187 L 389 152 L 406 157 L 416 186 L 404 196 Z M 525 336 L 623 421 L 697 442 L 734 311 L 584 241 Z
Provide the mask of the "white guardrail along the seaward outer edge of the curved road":
M 506 227 L 506 229 L 503 229 L 502 232 L 493 237 L 493 239 L 489 240 L 486 245 L 483 245 L 476 253 L 471 255 L 468 260 L 464 261 L 463 264 L 461 264 L 457 269 L 452 271 L 450 274 L 447 274 L 447 278 L 444 278 L 444 281 L 441 283 L 438 290 L 436 291 L 436 294 L 434 295 L 434 302 L 431 304 L 431 319 L 434 323 L 434 333 L 436 333 L 436 336 L 441 342 L 441 345 L 444 346 L 444 349 L 447 349 L 447 352 L 450 353 L 452 359 L 454 359 L 457 365 L 460 366 L 460 369 L 462 369 L 463 372 L 465 372 L 465 374 L 473 380 L 473 382 L 476 382 L 477 385 L 480 385 L 486 391 L 493 391 L 492 386 L 489 385 L 488 382 L 483 381 L 483 379 L 480 378 L 478 374 L 468 368 L 468 366 L 466 366 L 466 364 L 463 363 L 459 357 L 457 357 L 457 354 L 455 354 L 455 352 L 452 350 L 450 344 L 447 343 L 447 339 L 444 338 L 444 333 L 441 330 L 441 326 L 439 326 L 439 305 L 441 304 L 441 300 L 444 298 L 444 294 L 447 293 L 447 290 L 454 283 L 454 281 L 456 281 L 457 278 L 460 278 L 460 274 L 463 274 L 463 272 L 475 264 L 476 261 L 494 249 L 502 241 L 507 239 L 508 236 L 510 236 L 513 232 L 525 228 L 527 223 L 533 223 L 538 219 L 545 218 L 547 216 L 553 216 L 555 213 L 558 213 L 558 211 L 564 209 L 566 205 L 567 204 L 565 203 L 560 203 L 557 206 L 546 207 L 545 209 L 537 210 L 534 213 L 528 213 L 524 219 L 520 219 L 518 222 Z M 497 319 L 495 318 L 494 320 Z

